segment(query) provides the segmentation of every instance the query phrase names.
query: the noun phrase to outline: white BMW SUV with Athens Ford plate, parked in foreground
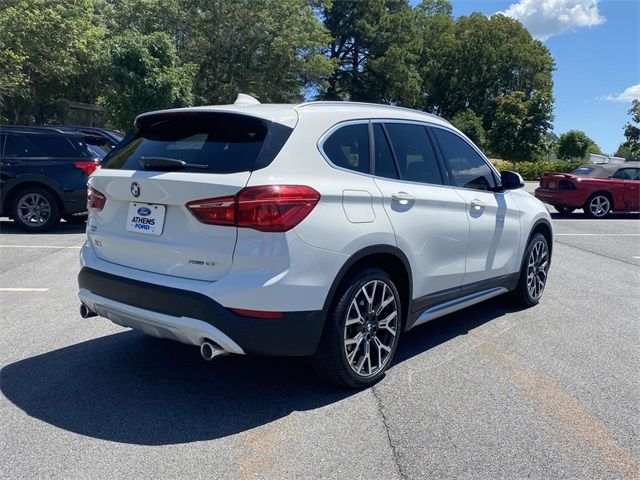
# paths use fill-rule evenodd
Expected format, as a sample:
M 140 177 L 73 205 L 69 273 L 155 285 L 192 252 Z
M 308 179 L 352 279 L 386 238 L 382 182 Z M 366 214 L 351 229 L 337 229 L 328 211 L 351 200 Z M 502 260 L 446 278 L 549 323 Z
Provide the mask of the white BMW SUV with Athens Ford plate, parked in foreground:
M 542 295 L 547 210 L 439 117 L 240 95 L 135 126 L 89 180 L 84 317 L 363 387 L 407 330 Z

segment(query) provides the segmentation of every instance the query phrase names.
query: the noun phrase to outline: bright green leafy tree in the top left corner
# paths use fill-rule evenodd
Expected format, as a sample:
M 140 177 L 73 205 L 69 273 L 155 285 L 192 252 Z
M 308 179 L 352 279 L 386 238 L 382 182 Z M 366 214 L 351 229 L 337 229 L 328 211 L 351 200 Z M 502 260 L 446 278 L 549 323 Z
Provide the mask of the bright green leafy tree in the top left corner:
M 85 93 L 86 82 L 76 79 L 99 78 L 96 58 L 104 52 L 105 31 L 95 24 L 93 7 L 92 0 L 0 0 L 0 85 L 8 121 L 43 123 L 65 108 L 67 98 Z

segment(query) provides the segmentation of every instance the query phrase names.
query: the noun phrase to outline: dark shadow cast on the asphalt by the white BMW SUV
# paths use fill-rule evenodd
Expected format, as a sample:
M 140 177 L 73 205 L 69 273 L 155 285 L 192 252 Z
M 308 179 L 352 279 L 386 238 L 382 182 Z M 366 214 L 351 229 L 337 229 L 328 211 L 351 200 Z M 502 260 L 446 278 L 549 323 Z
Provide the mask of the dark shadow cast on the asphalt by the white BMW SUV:
M 507 311 L 492 301 L 418 327 L 404 335 L 392 368 Z M 221 438 L 357 393 L 320 382 L 304 358 L 206 363 L 192 346 L 134 331 L 7 365 L 0 391 L 56 427 L 140 445 Z

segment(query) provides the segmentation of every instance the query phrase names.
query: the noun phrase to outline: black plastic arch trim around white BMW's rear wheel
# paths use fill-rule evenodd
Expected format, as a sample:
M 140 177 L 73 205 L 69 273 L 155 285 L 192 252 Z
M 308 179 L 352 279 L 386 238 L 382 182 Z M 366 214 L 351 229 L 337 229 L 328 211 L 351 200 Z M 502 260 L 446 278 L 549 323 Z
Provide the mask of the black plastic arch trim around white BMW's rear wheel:
M 386 271 L 396 283 L 398 293 L 400 293 L 402 321 L 404 324 L 408 313 L 411 311 L 410 304 L 413 296 L 413 277 L 409 259 L 402 250 L 393 245 L 371 245 L 351 255 L 333 280 L 324 302 L 323 311 L 328 313 L 333 302 L 336 300 L 336 293 L 340 291 L 353 275 L 367 267 L 377 267 Z

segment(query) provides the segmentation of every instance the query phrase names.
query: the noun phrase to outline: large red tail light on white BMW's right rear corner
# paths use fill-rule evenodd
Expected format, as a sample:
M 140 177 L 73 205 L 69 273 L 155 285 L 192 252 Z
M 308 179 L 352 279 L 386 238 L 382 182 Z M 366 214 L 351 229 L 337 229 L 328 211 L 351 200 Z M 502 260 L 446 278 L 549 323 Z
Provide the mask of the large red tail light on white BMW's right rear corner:
M 261 232 L 286 232 L 315 208 L 320 194 L 303 185 L 248 187 L 234 197 L 219 197 L 187 203 L 200 222 L 235 225 Z

